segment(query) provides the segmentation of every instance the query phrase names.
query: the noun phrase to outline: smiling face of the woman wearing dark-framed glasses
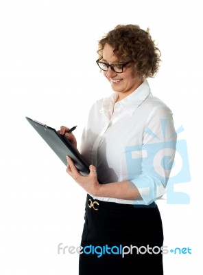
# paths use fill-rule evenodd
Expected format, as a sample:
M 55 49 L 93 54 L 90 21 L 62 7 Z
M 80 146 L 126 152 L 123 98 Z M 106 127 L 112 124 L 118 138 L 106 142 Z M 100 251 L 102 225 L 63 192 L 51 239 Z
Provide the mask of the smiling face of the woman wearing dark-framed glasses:
M 104 45 L 102 62 L 108 64 L 118 63 L 117 57 L 113 53 L 113 48 L 107 43 Z M 132 67 L 129 65 L 123 67 L 122 73 L 116 73 L 110 67 L 108 67 L 107 72 L 103 72 L 104 76 L 106 76 L 110 82 L 112 90 L 119 93 L 118 100 L 126 98 L 126 96 L 131 94 L 142 83 L 142 80 L 136 76 L 132 70 Z

